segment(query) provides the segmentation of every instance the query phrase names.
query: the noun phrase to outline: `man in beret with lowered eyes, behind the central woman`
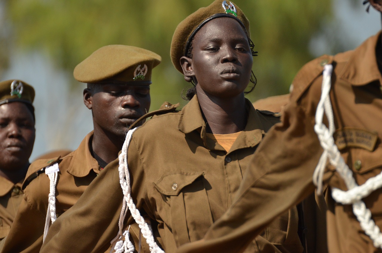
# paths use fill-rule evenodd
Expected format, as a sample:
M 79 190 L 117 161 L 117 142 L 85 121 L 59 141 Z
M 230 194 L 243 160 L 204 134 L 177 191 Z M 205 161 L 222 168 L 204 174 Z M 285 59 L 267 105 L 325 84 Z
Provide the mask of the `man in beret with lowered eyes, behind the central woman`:
M 87 83 L 84 104 L 92 110 L 94 131 L 70 154 L 31 164 L 22 187 L 24 200 L 2 253 L 39 252 L 50 222 L 56 216 L 60 219 L 117 158 L 128 127 L 149 110 L 151 73 L 160 61 L 159 55 L 146 49 L 108 45 L 76 66 L 74 78 Z M 138 227 L 131 230 L 138 238 Z

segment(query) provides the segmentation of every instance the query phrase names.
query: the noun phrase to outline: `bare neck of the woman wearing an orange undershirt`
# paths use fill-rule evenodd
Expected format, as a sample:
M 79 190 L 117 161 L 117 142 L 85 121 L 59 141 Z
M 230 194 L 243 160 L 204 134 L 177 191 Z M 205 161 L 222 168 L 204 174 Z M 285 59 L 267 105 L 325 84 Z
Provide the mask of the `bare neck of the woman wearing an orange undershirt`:
M 196 86 L 197 99 L 207 122 L 207 133 L 229 134 L 242 131 L 247 124 L 244 93 L 236 97 L 220 98 Z

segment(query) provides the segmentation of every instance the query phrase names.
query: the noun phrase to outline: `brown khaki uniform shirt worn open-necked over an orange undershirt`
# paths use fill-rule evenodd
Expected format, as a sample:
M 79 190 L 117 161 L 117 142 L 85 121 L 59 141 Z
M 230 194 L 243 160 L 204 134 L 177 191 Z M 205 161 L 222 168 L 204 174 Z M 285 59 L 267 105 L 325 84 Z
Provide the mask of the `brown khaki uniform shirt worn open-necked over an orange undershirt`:
M 154 116 L 134 132 L 128 148 L 132 197 L 141 214 L 157 223 L 153 230 L 165 252 L 201 239 L 222 216 L 265 132 L 279 122 L 248 100 L 246 107 L 247 125 L 229 152 L 206 138 L 196 96 L 181 111 Z M 122 198 L 116 160 L 52 225 L 41 252 L 102 252 L 117 234 Z M 132 222 L 127 217 L 125 224 Z M 283 212 L 248 252 L 302 252 L 297 223 L 296 208 Z

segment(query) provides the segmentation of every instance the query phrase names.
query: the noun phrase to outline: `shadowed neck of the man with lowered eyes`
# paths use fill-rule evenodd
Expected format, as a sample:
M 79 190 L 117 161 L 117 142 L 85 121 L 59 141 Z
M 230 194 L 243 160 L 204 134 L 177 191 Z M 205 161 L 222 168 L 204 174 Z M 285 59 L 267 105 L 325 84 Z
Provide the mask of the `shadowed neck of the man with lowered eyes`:
M 100 128 L 94 128 L 92 139 L 93 152 L 102 160 L 110 163 L 117 159 L 118 152 L 122 149 L 124 138 L 106 133 Z

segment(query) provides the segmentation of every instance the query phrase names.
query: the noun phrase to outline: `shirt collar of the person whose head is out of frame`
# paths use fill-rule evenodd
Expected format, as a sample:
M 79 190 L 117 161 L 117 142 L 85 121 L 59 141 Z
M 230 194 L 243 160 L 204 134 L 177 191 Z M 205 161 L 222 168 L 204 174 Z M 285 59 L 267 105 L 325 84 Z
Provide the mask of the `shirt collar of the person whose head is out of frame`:
M 380 42 L 381 32 L 367 39 L 353 50 L 339 78 L 354 85 L 361 86 L 373 81 L 382 83 L 377 64 L 376 47 Z

